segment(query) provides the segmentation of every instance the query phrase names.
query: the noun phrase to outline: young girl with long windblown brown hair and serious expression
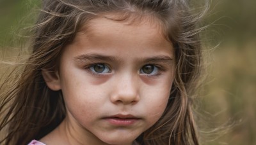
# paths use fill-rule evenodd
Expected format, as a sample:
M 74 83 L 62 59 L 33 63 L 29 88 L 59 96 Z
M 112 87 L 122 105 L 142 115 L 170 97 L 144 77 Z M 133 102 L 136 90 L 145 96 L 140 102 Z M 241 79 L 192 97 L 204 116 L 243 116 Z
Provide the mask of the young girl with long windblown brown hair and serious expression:
M 0 88 L 0 144 L 198 144 L 190 12 L 186 0 L 42 1 L 33 52 Z

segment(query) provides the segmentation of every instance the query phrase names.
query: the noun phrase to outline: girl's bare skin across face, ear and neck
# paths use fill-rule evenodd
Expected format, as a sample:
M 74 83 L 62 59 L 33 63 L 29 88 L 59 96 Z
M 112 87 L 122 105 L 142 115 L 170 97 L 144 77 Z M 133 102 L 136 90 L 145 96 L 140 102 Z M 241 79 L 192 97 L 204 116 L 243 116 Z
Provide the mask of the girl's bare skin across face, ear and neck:
M 62 90 L 67 117 L 40 141 L 132 144 L 163 114 L 174 66 L 172 43 L 148 18 L 90 20 L 65 47 L 60 72 L 43 71 L 49 88 Z

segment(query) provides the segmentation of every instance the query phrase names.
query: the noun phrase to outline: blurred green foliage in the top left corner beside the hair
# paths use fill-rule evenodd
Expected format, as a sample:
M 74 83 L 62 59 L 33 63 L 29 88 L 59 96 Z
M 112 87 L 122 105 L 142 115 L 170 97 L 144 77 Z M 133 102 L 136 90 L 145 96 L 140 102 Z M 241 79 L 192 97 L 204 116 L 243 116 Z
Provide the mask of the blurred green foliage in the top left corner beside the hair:
M 0 0 L 0 46 L 13 43 L 19 30 L 31 25 L 33 11 L 40 1 Z M 33 15 L 33 16 L 32 16 Z

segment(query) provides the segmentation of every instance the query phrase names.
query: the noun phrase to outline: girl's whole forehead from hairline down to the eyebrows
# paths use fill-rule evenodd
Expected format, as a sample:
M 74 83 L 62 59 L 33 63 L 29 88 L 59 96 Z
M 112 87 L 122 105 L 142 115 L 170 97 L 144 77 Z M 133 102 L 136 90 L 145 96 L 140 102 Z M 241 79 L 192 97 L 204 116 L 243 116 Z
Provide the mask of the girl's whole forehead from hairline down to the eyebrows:
M 168 55 L 173 57 L 173 44 L 168 41 L 158 22 L 140 19 L 113 20 L 106 17 L 93 18 L 77 32 L 74 41 L 67 46 L 71 52 L 109 53 L 109 55 L 131 53 L 140 57 L 151 55 Z M 138 56 L 137 56 L 138 57 Z

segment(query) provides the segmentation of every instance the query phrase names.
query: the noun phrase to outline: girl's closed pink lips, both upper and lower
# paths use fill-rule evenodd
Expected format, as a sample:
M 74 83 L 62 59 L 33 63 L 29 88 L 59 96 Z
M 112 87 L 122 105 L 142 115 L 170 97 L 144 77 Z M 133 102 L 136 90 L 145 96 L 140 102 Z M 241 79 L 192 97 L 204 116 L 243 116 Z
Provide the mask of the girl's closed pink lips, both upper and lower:
M 139 120 L 141 120 L 141 118 L 138 118 L 131 114 L 116 114 L 113 116 L 108 116 L 104 118 L 104 120 L 108 121 L 108 123 L 110 123 L 111 125 L 129 126 L 138 122 Z

